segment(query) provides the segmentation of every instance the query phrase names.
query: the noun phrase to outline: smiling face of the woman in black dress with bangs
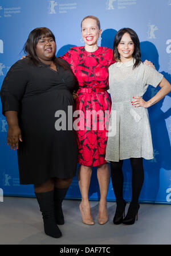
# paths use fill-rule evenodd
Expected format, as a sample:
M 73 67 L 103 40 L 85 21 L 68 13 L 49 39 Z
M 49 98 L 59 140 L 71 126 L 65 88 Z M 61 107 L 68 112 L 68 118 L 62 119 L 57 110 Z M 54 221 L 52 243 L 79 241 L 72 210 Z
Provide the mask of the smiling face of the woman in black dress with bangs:
M 40 61 L 47 62 L 51 61 L 56 51 L 56 43 L 52 37 L 45 37 L 39 39 L 36 45 L 36 55 Z

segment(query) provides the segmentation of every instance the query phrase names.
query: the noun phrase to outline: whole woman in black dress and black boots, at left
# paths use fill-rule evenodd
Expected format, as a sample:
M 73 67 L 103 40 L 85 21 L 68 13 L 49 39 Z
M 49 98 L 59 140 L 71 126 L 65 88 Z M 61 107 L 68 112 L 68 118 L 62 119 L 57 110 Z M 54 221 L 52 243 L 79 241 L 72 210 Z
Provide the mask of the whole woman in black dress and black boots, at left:
M 72 123 L 60 129 L 59 114 L 66 114 L 63 122 L 68 106 L 74 111 L 75 78 L 68 63 L 55 57 L 55 37 L 46 27 L 32 30 L 24 49 L 29 56 L 11 67 L 1 89 L 7 144 L 18 149 L 20 183 L 34 184 L 45 233 L 59 238 L 56 223 L 64 223 L 62 201 L 78 158 Z

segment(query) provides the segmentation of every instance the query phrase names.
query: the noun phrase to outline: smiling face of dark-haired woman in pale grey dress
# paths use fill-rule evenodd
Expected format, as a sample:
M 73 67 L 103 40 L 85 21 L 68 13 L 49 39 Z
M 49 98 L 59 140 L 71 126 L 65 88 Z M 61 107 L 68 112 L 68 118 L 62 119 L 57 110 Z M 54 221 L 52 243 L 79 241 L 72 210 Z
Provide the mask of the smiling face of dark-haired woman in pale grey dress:
M 117 46 L 121 62 L 131 61 L 134 49 L 134 43 L 130 35 L 128 33 L 125 33 L 121 38 L 119 45 Z

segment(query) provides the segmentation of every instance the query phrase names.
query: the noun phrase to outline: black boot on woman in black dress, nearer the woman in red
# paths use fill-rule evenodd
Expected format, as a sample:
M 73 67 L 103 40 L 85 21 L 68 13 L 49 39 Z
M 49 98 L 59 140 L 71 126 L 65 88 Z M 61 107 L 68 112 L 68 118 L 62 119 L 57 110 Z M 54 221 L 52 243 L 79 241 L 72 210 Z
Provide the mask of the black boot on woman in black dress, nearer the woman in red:
M 54 206 L 55 206 L 55 220 L 58 225 L 64 224 L 64 216 L 62 211 L 62 202 L 66 196 L 68 187 L 64 189 L 54 188 Z

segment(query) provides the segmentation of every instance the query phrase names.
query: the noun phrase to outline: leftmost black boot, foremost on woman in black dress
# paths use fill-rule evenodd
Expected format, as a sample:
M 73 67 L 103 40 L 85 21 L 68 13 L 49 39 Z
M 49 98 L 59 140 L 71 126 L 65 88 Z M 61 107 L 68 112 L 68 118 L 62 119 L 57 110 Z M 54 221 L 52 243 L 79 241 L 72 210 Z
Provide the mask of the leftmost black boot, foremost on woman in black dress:
M 43 216 L 44 233 L 50 237 L 59 238 L 62 236 L 59 227 L 56 225 L 54 215 L 54 190 L 35 193 Z

